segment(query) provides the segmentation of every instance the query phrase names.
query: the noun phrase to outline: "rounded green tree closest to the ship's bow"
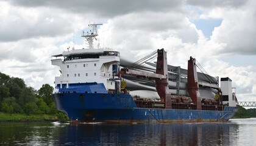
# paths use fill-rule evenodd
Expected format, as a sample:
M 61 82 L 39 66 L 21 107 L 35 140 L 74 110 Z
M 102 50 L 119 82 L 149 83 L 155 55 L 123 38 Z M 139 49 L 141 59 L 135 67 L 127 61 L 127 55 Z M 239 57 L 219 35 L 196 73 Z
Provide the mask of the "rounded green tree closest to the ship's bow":
M 50 86 L 49 84 L 44 84 L 42 87 L 38 90 L 38 96 L 46 102 L 47 105 L 51 104 L 53 102 L 52 99 L 52 91 L 54 88 Z

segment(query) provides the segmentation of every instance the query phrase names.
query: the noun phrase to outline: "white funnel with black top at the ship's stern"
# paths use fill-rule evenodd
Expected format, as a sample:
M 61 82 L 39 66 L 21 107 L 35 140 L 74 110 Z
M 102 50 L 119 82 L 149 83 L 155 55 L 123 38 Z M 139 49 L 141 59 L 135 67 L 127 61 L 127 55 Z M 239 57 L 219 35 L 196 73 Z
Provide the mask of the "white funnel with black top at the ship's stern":
M 232 80 L 229 77 L 221 78 L 222 102 L 229 106 L 236 106 L 235 96 L 232 96 Z

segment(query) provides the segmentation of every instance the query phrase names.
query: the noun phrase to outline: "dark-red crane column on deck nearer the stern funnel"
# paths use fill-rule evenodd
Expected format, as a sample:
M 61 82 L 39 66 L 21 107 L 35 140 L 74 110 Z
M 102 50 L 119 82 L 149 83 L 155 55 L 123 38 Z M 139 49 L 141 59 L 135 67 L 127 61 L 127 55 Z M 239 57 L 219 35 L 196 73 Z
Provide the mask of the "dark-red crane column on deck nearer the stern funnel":
M 196 72 L 196 59 L 192 57 L 188 60 L 188 94 L 190 94 L 192 102 L 196 104 L 196 109 L 201 110 L 202 106 Z

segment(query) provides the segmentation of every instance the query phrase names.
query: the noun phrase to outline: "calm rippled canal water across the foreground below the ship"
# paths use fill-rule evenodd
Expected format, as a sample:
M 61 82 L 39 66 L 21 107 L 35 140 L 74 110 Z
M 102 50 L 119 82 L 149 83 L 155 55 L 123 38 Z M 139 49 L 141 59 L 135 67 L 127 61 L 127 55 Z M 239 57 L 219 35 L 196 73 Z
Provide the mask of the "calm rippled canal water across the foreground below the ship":
M 224 123 L 0 123 L 0 145 L 256 145 L 256 118 Z

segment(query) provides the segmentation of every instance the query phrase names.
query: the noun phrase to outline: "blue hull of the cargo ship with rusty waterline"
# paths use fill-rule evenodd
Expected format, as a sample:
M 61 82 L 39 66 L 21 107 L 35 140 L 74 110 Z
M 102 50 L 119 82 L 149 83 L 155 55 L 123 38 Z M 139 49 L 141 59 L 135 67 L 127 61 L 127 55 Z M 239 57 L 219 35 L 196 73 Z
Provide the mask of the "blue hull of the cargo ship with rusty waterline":
M 225 106 L 224 111 L 138 108 L 128 94 L 56 93 L 53 97 L 71 122 L 224 122 L 238 111 L 238 106 Z

